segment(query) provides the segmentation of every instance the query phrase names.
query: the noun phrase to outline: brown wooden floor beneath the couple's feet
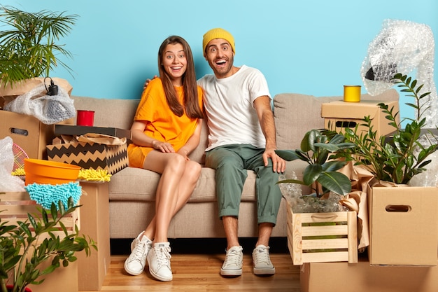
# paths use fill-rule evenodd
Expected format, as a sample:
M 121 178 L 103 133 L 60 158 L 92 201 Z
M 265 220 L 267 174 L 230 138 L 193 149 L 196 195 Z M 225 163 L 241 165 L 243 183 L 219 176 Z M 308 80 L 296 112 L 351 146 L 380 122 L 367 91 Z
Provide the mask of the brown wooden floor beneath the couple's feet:
M 243 256 L 241 277 L 220 276 L 224 254 L 172 254 L 173 281 L 162 282 L 153 279 L 146 268 L 139 276 L 130 276 L 123 268 L 127 255 L 111 256 L 111 265 L 101 291 L 263 291 L 299 292 L 299 266 L 292 265 L 289 253 L 271 253 L 276 274 L 260 277 L 253 274 L 250 254 Z M 80 291 L 81 292 L 81 291 Z

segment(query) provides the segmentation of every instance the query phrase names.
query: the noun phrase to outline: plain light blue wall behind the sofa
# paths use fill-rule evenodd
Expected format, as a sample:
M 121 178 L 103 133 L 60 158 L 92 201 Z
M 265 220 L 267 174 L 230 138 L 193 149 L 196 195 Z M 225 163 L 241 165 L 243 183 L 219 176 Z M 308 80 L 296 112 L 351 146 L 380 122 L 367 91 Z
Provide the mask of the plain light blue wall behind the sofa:
M 73 60 L 52 75 L 66 78 L 73 95 L 139 98 L 143 81 L 157 74 L 157 50 L 171 34 L 192 46 L 198 77 L 211 73 L 202 35 L 223 27 L 236 39 L 235 64 L 260 69 L 271 95 L 299 92 L 342 95 L 344 84 L 363 85 L 360 67 L 386 18 L 411 20 L 438 35 L 438 1 L 60 1 L 2 0 L 25 11 L 66 11 L 80 17 L 64 39 Z M 437 68 L 435 46 L 435 67 Z M 438 84 L 437 74 L 435 83 Z M 362 93 L 365 90 L 362 87 Z M 403 114 L 402 114 L 403 116 Z

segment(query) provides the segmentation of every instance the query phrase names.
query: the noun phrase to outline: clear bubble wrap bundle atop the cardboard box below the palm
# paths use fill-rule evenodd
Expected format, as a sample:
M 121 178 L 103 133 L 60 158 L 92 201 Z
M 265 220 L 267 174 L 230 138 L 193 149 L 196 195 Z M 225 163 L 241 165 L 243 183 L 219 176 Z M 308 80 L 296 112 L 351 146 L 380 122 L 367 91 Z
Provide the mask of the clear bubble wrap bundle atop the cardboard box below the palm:
M 76 115 L 73 99 L 62 87 L 59 86 L 58 95 L 38 97 L 42 92 L 46 92 L 44 84 L 36 86 L 24 95 L 20 95 L 6 104 L 5 109 L 6 111 L 34 116 L 46 125 L 59 123 Z

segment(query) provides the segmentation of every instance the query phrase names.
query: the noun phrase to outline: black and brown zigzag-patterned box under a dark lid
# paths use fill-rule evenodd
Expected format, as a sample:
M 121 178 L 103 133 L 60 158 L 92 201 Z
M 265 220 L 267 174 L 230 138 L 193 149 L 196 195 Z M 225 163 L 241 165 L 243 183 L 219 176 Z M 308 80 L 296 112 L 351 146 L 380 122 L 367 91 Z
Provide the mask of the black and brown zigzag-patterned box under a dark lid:
M 106 169 L 115 174 L 129 166 L 127 144 L 106 145 L 88 142 L 55 144 L 47 146 L 48 160 L 79 165 L 84 169 Z

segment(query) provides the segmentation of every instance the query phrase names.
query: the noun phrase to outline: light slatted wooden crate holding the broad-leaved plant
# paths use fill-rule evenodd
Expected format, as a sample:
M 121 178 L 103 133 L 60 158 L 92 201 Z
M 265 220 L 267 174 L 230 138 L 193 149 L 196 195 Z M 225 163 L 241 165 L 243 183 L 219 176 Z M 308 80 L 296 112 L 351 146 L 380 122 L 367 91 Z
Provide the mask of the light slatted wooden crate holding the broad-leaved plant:
M 355 211 L 294 214 L 288 205 L 288 248 L 294 265 L 358 263 Z

